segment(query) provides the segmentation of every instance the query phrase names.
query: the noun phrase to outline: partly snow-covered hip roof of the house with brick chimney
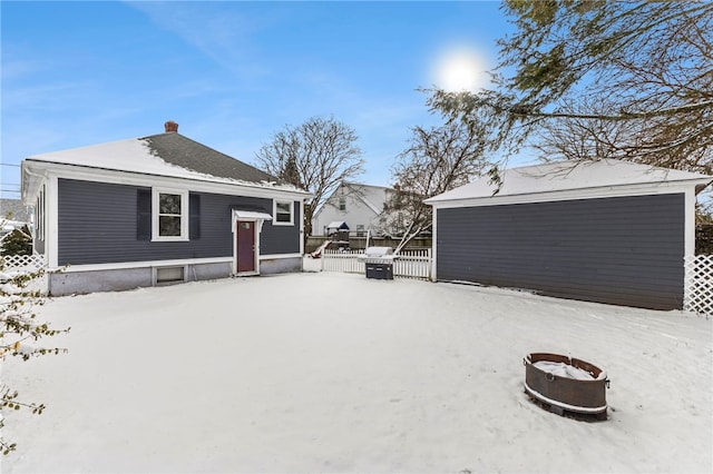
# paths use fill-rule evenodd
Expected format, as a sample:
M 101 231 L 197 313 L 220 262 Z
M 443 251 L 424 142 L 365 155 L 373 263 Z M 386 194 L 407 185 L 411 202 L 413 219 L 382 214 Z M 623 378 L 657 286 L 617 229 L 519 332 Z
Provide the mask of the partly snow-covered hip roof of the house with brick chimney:
M 274 186 L 277 178 L 177 132 L 33 155 L 27 160 L 299 191 L 291 185 Z

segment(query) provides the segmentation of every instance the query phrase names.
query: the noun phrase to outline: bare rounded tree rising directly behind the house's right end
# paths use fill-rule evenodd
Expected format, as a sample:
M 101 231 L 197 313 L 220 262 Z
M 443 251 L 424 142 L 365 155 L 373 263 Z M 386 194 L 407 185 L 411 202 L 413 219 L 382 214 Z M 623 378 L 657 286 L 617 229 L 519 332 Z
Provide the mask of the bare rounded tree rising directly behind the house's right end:
M 256 154 L 257 166 L 284 182 L 312 192 L 304 205 L 305 241 L 312 218 L 340 182 L 364 171 L 356 132 L 348 125 L 312 117 L 296 127 L 286 126 Z

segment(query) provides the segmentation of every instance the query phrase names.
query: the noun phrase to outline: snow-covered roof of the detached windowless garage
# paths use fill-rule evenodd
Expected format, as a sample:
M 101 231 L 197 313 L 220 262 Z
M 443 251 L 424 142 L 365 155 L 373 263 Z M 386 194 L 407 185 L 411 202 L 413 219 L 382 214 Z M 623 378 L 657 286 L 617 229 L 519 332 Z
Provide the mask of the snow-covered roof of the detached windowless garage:
M 664 182 L 705 186 L 711 181 L 713 181 L 712 176 L 614 159 L 585 162 L 559 161 L 507 169 L 502 174 L 502 186 L 497 194 L 495 194 L 497 187 L 490 182 L 490 178 L 482 177 L 427 199 L 426 203 L 439 204 L 461 199 L 502 198 Z

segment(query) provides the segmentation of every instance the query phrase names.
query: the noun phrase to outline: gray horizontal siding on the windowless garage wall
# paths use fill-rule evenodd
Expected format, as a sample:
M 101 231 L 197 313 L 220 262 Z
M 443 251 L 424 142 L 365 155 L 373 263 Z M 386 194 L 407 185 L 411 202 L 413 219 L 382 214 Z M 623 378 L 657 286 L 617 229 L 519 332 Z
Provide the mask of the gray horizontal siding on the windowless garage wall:
M 438 279 L 655 309 L 683 305 L 683 194 L 437 213 Z

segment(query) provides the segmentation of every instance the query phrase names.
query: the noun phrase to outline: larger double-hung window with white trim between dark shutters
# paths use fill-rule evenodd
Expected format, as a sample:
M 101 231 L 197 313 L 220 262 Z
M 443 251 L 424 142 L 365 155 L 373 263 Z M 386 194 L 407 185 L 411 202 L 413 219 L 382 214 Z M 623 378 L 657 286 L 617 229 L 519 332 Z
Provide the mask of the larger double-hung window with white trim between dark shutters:
M 188 191 L 154 188 L 152 240 L 188 239 Z

